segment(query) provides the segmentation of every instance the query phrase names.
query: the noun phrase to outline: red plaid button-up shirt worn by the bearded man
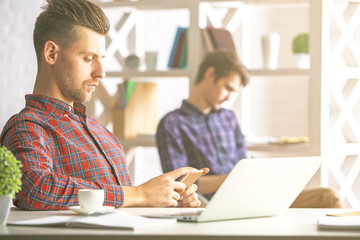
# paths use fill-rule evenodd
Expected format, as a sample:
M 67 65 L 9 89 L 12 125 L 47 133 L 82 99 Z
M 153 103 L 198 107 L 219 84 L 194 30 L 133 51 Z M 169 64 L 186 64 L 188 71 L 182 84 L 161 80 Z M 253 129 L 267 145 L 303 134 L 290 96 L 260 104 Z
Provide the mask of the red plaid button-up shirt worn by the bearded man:
M 23 164 L 22 190 L 14 204 L 23 209 L 64 209 L 78 205 L 82 188 L 105 190 L 104 205 L 124 203 L 121 185 L 130 186 L 119 140 L 79 103 L 27 95 L 0 142 Z

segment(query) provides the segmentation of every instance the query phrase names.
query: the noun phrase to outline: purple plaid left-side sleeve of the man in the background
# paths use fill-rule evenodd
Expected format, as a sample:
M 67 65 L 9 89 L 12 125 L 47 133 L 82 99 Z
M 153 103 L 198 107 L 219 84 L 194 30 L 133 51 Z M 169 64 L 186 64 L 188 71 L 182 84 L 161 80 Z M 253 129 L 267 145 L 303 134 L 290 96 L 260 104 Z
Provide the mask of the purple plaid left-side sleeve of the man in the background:
M 159 123 L 156 144 L 163 172 L 189 166 L 180 129 L 168 116 L 165 116 Z

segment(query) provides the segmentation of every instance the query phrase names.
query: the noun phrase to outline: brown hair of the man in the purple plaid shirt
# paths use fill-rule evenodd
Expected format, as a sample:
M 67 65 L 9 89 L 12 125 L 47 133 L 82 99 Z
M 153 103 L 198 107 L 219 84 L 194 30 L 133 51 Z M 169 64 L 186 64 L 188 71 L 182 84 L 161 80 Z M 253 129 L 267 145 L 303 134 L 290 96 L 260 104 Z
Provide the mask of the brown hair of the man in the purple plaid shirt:
M 199 83 L 204 78 L 205 71 L 209 67 L 215 68 L 215 81 L 232 73 L 237 73 L 241 78 L 243 87 L 249 83 L 248 71 L 239 61 L 235 51 L 215 50 L 208 53 L 200 64 L 195 83 Z

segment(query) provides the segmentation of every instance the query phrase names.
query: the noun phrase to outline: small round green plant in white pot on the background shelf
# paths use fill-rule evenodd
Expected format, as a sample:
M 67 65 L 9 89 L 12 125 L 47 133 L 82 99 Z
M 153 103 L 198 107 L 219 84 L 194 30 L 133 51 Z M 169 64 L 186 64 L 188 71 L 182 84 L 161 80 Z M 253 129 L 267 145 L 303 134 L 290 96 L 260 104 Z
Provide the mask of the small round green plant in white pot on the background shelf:
M 309 34 L 300 33 L 292 41 L 292 52 L 296 55 L 296 65 L 301 69 L 310 68 Z

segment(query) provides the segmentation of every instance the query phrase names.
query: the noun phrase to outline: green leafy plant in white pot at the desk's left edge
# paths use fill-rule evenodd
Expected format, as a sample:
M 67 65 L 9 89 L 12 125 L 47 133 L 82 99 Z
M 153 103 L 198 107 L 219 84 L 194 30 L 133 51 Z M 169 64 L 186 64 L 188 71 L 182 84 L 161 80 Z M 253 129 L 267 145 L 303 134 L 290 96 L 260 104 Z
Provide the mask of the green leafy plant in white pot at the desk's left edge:
M 0 225 L 6 224 L 11 200 L 21 189 L 21 167 L 12 152 L 0 147 Z

